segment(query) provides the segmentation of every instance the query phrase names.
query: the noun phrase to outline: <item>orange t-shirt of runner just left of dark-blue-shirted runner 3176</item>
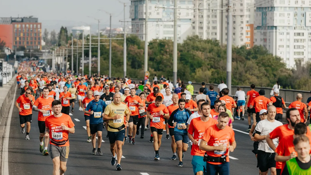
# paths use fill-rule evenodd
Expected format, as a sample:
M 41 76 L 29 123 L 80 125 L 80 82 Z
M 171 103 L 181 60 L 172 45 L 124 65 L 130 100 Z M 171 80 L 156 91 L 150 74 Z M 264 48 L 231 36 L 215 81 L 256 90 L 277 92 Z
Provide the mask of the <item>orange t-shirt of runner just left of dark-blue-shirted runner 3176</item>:
M 161 104 L 159 107 L 157 107 L 154 103 L 148 106 L 147 111 L 149 111 L 150 115 L 153 116 L 153 119 L 150 121 L 150 127 L 155 127 L 156 129 L 163 128 L 164 118 L 160 114 L 160 110 L 162 110 L 164 114 L 169 113 L 169 110 L 163 104 Z

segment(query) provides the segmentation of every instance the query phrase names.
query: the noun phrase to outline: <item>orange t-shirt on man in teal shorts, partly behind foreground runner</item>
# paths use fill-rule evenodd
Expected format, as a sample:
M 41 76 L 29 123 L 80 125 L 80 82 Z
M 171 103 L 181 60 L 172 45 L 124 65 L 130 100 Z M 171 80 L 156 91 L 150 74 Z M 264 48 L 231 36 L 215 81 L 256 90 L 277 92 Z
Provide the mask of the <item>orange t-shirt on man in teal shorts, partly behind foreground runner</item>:
M 209 117 L 208 117 L 209 118 Z M 199 149 L 199 145 L 201 143 L 202 136 L 204 135 L 207 128 L 212 125 L 217 124 L 218 122 L 215 119 L 209 118 L 207 122 L 203 122 L 201 117 L 194 118 L 191 120 L 189 125 L 188 133 L 193 135 L 193 139 L 199 139 L 198 144 L 192 144 L 191 147 L 191 155 L 192 156 L 204 156 L 205 151 Z

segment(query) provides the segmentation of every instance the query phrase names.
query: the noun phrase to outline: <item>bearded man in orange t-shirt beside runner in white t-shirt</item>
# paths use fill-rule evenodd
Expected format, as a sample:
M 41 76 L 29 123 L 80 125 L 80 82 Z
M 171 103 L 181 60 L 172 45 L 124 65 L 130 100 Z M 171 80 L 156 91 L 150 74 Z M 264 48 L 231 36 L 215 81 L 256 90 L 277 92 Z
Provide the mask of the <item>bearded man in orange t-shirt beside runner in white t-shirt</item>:
M 273 139 L 278 138 L 279 140 L 282 140 L 285 136 L 294 135 L 295 124 L 300 123 L 300 114 L 298 109 L 296 108 L 288 109 L 286 112 L 286 119 L 288 124 L 284 124 L 282 126 L 277 127 L 266 136 L 266 141 L 273 151 L 276 151 L 276 146 L 272 141 Z M 281 174 L 281 168 L 282 162 L 276 162 L 276 175 Z

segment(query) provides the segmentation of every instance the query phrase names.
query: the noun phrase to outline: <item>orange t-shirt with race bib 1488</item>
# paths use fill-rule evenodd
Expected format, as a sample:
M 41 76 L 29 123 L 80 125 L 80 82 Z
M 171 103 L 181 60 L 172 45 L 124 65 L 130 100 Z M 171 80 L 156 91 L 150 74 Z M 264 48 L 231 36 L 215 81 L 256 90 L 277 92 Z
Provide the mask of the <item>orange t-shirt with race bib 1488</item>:
M 51 115 L 46 118 L 45 120 L 45 126 L 49 128 L 50 130 L 50 139 L 54 141 L 65 141 L 68 140 L 68 134 L 69 131 L 62 129 L 62 124 L 65 126 L 72 128 L 74 126 L 74 123 L 71 120 L 71 117 L 67 114 L 62 113 L 62 116 L 60 117 L 54 117 L 54 115 Z M 50 144 L 55 145 L 50 141 Z M 69 140 L 60 146 L 69 146 Z

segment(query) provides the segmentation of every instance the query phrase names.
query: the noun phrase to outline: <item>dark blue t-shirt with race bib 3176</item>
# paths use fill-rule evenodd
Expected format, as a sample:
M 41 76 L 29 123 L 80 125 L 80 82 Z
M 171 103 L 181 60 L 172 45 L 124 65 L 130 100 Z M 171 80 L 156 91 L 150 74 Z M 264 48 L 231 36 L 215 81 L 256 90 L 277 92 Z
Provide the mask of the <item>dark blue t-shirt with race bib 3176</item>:
M 180 133 L 187 133 L 187 128 L 186 129 L 178 129 L 182 125 L 187 125 L 187 121 L 190 118 L 191 111 L 189 109 L 184 109 L 184 110 L 179 110 L 176 109 L 172 112 L 170 119 L 169 119 L 169 124 L 173 125 L 173 123 L 177 122 L 176 127 L 174 127 L 174 132 L 180 132 Z

